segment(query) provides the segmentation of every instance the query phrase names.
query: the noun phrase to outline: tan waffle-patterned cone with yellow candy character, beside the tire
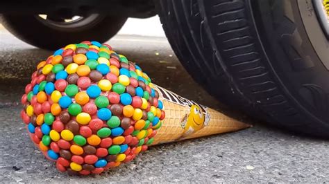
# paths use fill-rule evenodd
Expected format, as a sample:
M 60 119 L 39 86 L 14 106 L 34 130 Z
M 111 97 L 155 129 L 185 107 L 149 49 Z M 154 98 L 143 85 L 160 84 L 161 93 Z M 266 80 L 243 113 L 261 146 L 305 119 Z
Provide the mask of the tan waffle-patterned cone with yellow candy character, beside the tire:
M 160 86 L 153 85 L 153 88 L 159 93 L 166 118 L 152 145 L 237 131 L 251 126 Z

